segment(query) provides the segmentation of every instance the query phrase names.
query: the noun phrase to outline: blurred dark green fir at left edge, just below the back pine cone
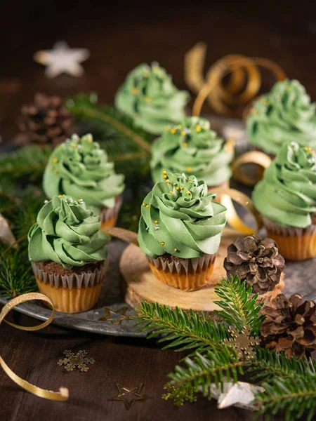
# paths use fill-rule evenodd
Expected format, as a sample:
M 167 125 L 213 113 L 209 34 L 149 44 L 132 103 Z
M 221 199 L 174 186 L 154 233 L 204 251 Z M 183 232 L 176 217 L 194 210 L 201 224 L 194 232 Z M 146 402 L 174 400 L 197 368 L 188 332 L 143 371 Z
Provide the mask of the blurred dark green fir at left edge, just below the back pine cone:
M 29 180 L 41 177 L 51 154 L 51 148 L 27 145 L 0 157 L 0 187 L 8 191 L 8 183 L 27 176 Z

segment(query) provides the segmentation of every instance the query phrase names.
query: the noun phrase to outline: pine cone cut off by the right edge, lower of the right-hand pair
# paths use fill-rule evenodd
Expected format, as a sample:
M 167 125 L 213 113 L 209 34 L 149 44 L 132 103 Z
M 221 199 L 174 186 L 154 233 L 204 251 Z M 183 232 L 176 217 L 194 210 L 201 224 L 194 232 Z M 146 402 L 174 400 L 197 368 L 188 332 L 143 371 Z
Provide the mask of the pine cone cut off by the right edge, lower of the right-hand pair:
M 297 358 L 310 356 L 316 349 L 316 305 L 302 298 L 295 294 L 288 300 L 279 294 L 261 309 L 266 316 L 261 325 L 265 347 Z

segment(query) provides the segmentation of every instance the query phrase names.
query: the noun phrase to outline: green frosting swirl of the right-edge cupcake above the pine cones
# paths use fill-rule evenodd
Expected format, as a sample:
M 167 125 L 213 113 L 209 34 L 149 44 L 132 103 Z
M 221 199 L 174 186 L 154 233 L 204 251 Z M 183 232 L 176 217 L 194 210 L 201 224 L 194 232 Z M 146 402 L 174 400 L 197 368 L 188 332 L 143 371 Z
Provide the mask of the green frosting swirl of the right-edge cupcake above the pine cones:
M 256 208 L 285 227 L 305 228 L 316 212 L 316 163 L 310 147 L 284 145 L 253 192 Z

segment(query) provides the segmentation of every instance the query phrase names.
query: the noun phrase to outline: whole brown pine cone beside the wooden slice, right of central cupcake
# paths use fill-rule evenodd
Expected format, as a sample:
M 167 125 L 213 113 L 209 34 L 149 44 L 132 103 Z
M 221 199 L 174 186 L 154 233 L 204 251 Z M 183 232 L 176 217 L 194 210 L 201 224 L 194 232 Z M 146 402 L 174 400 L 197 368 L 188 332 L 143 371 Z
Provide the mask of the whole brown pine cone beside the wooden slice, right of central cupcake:
M 277 243 L 272 239 L 247 235 L 228 246 L 224 267 L 228 276 L 238 275 L 252 285 L 254 293 L 264 294 L 279 283 L 284 258 L 279 255 Z

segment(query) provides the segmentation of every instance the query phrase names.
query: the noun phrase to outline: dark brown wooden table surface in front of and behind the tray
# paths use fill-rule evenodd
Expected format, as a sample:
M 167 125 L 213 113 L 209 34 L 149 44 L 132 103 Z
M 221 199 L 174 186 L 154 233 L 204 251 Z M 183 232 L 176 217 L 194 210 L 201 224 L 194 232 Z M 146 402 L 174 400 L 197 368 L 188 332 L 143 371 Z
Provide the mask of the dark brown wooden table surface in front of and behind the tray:
M 299 79 L 316 100 L 315 2 L 277 2 L 242 8 L 239 2 L 198 1 L 117 2 L 93 6 L 87 1 L 18 2 L 1 5 L 0 17 L 0 135 L 9 141 L 16 133 L 20 105 L 37 91 L 62 96 L 98 91 L 112 102 L 126 72 L 140 62 L 158 60 L 185 88 L 183 56 L 198 41 L 209 46 L 206 69 L 228 53 L 275 60 L 289 77 Z M 261 8 L 261 10 L 260 10 Z M 44 67 L 32 60 L 34 51 L 51 48 L 59 39 L 72 47 L 86 47 L 91 58 L 81 79 L 59 76 L 49 80 Z M 11 314 L 17 323 L 34 320 Z M 214 401 L 198 399 L 176 408 L 161 399 L 166 375 L 180 360 L 146 340 L 91 335 L 49 326 L 38 333 L 15 330 L 5 323 L 0 353 L 21 377 L 36 385 L 70 389 L 65 403 L 39 399 L 22 391 L 0 370 L 0 420 L 252 420 L 248 411 L 217 410 Z M 65 349 L 86 349 L 96 360 L 87 373 L 67 373 L 57 366 Z M 150 399 L 127 411 L 122 402 L 108 401 L 115 385 L 144 384 Z

